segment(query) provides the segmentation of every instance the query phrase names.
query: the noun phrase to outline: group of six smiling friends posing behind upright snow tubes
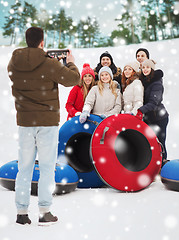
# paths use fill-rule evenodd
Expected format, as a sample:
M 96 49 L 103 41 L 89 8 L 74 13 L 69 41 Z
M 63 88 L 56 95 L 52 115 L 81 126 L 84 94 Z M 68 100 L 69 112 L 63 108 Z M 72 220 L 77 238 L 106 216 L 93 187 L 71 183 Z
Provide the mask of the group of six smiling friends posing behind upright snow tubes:
M 167 161 L 166 129 L 169 114 L 162 103 L 163 71 L 155 70 L 149 51 L 139 48 L 136 60 L 126 63 L 123 71 L 116 67 L 109 52 L 100 56 L 96 68 L 84 64 L 81 81 L 69 93 L 67 120 L 79 115 L 84 123 L 90 113 L 106 118 L 114 114 L 132 114 L 154 127 L 163 146 L 162 166 Z

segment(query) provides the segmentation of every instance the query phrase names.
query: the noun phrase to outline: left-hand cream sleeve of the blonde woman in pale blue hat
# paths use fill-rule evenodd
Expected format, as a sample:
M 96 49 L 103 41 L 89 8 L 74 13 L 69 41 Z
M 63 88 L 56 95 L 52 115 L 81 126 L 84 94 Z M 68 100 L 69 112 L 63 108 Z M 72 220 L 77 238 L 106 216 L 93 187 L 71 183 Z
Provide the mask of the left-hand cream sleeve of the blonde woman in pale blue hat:
M 95 101 L 96 101 L 96 86 L 92 87 L 91 90 L 89 91 L 85 99 L 83 111 L 88 111 L 90 113 L 91 110 L 94 108 Z

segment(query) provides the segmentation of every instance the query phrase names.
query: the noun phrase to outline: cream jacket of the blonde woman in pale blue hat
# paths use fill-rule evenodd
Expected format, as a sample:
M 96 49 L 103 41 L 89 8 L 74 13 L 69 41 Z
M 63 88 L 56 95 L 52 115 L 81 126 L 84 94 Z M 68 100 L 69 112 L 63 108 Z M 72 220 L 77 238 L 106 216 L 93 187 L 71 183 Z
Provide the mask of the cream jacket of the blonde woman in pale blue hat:
M 114 115 L 119 114 L 122 110 L 121 99 L 122 95 L 119 89 L 116 89 L 117 98 L 115 98 L 109 83 L 104 84 L 102 95 L 99 92 L 98 86 L 93 86 L 89 91 L 83 111 L 88 111 L 96 115 Z

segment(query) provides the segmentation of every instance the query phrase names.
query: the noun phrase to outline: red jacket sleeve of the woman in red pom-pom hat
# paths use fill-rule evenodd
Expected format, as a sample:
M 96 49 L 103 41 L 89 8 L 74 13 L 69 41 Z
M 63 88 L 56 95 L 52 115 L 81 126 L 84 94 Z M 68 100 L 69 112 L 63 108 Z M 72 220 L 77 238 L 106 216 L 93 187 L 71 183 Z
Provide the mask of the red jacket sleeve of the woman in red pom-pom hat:
M 75 116 L 75 113 L 78 112 L 74 107 L 77 95 L 78 95 L 78 90 L 76 87 L 73 87 L 69 93 L 68 100 L 65 105 L 65 108 L 67 112 L 70 114 L 70 116 Z

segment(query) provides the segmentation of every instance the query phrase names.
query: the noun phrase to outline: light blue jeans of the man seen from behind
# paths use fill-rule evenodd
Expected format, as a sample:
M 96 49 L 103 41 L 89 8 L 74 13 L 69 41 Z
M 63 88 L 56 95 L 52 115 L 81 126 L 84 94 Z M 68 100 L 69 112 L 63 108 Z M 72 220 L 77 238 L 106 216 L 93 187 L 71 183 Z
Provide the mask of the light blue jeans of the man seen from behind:
M 49 211 L 55 188 L 58 126 L 19 127 L 18 169 L 15 202 L 18 214 L 27 214 L 30 203 L 31 181 L 38 153 L 40 178 L 38 205 L 40 213 Z

